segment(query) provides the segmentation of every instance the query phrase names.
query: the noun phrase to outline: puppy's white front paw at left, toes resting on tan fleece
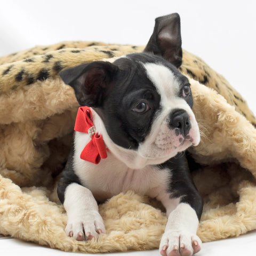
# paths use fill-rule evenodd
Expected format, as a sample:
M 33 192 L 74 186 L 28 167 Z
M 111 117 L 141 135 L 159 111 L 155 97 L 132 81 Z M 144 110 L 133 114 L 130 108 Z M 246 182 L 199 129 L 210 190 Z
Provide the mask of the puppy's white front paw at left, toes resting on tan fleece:
M 91 240 L 106 233 L 101 215 L 97 211 L 86 211 L 81 216 L 68 219 L 66 234 L 77 241 Z

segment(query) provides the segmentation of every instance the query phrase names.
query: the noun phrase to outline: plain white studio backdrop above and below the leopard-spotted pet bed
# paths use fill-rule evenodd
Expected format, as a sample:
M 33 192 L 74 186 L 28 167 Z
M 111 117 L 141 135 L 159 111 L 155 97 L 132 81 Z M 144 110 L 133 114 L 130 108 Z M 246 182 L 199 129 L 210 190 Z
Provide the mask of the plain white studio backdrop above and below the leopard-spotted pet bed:
M 254 0 L 1 1 L 0 56 L 61 41 L 146 45 L 153 31 L 154 19 L 173 12 L 181 16 L 183 48 L 225 76 L 256 113 Z M 255 241 L 256 233 L 253 232 L 241 238 L 203 244 L 198 256 L 249 255 Z M 40 252 L 66 255 L 54 250 L 46 252 L 35 246 L 15 242 L 15 239 L 1 239 L 1 255 L 22 252 L 23 255 Z M 158 255 L 158 252 L 145 255 Z

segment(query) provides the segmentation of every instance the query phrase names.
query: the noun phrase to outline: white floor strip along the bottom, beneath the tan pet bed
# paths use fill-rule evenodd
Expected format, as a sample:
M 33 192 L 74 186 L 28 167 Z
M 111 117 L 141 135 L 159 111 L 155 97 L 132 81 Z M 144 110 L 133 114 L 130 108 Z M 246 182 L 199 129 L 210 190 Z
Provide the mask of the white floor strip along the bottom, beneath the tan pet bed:
M 253 251 L 256 242 L 256 230 L 251 231 L 248 234 L 223 239 L 220 241 L 214 241 L 209 243 L 203 243 L 202 250 L 198 252 L 197 256 L 244 256 L 255 255 Z M 59 250 L 50 249 L 44 246 L 40 246 L 34 243 L 28 243 L 14 239 L 10 237 L 0 237 L 0 255 L 8 256 L 78 256 L 82 253 L 70 253 L 62 252 Z M 92 255 L 105 255 L 105 256 L 159 256 L 158 250 L 151 251 L 133 251 L 124 253 L 105 253 L 105 254 L 83 254 L 86 256 Z

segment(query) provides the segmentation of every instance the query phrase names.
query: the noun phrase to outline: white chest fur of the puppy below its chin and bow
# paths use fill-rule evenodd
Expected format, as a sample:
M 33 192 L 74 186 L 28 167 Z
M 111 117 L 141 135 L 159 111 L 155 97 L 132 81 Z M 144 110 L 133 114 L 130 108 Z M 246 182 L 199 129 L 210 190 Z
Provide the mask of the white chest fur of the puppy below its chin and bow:
M 121 192 L 133 190 L 135 193 L 158 197 L 170 182 L 170 172 L 148 165 L 142 169 L 130 169 L 108 152 L 108 157 L 99 164 L 80 158 L 81 151 L 89 140 L 86 133 L 75 134 L 74 170 L 81 183 L 92 191 L 98 201 L 103 201 Z M 165 190 L 165 189 L 164 189 Z

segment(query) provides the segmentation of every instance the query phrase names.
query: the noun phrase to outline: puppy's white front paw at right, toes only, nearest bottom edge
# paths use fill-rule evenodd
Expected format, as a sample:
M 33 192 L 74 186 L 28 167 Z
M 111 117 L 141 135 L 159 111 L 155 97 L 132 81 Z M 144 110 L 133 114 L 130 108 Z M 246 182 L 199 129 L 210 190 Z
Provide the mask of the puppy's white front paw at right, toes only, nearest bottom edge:
M 201 245 L 201 239 L 197 235 L 165 231 L 159 252 L 162 256 L 191 256 L 201 250 Z

